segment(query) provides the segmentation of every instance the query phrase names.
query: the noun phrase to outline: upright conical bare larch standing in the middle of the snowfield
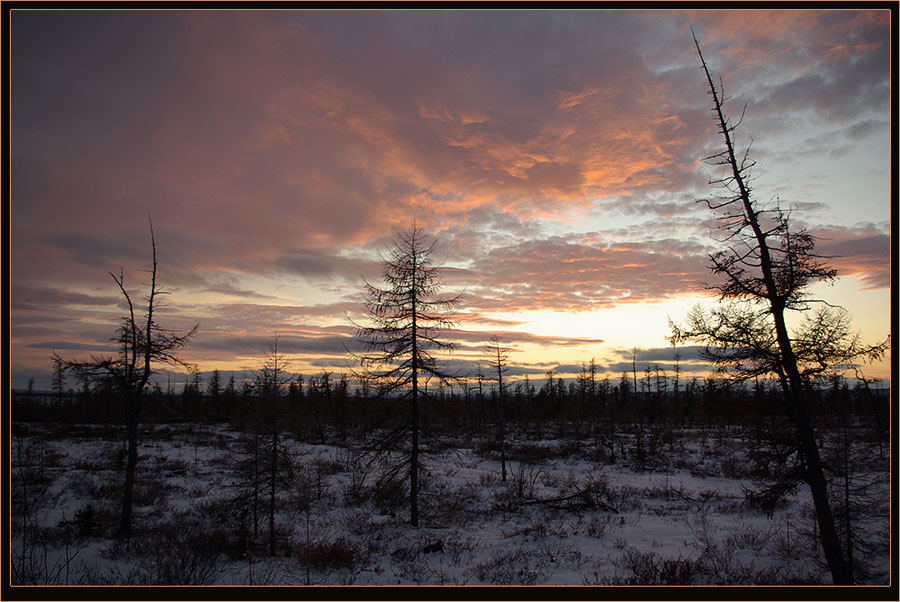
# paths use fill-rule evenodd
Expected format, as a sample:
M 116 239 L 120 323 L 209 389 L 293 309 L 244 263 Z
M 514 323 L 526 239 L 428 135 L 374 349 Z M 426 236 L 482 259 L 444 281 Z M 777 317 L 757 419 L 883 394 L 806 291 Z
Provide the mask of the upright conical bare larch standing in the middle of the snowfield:
M 455 324 L 451 310 L 459 299 L 439 296 L 441 268 L 432 263 L 435 244 L 415 222 L 397 234 L 382 256 L 387 286 L 365 283 L 370 324 L 357 325 L 357 338 L 364 351 L 355 356 L 363 372 L 378 384 L 381 396 L 399 397 L 408 403 L 408 422 L 399 432 L 408 433 L 410 438 L 409 507 L 414 527 L 419 526 L 419 410 L 424 400 L 420 380 L 452 378 L 438 365 L 433 352 L 452 349 L 451 343 L 439 336 Z

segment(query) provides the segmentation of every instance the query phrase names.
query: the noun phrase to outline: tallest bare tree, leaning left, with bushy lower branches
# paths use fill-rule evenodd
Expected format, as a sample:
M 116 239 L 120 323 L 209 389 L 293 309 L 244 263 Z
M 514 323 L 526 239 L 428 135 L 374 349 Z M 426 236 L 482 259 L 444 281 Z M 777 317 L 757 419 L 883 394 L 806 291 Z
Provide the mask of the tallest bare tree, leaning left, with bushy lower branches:
M 808 317 L 796 334 L 789 332 L 787 312 L 808 311 L 812 303 L 819 302 L 810 298 L 810 285 L 833 280 L 837 273 L 816 254 L 811 234 L 791 229 L 789 213 L 777 206 L 761 208 L 752 199 L 754 162 L 749 158 L 749 146 L 740 156 L 735 148 L 734 132 L 740 121 L 732 123 L 726 117 L 722 85 L 713 81 L 696 37 L 694 43 L 725 145 L 708 161 L 724 168 L 726 175 L 711 183 L 724 188 L 726 194 L 705 202 L 726 233 L 728 247 L 710 260 L 712 272 L 721 277 L 721 283 L 713 288 L 722 302 L 730 303 L 712 310 L 695 307 L 686 325 L 671 325 L 672 340 L 704 344 L 705 359 L 735 378 L 778 377 L 793 425 L 797 474 L 812 493 L 832 579 L 835 584 L 850 584 L 853 578 L 835 528 L 807 388 L 811 376 L 859 358 L 878 358 L 888 343 L 861 344 L 848 328 L 846 312 L 824 302 L 823 309 Z

